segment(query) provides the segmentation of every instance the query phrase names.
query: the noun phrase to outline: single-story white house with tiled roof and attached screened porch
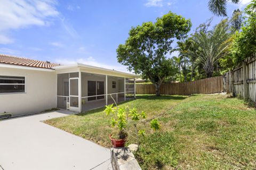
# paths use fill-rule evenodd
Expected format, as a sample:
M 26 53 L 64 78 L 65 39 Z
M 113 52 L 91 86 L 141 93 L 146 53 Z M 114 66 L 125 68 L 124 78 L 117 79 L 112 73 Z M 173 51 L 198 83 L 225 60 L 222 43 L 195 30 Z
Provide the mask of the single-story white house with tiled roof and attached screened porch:
M 135 75 L 0 54 L 0 114 L 60 108 L 82 112 L 135 98 Z

